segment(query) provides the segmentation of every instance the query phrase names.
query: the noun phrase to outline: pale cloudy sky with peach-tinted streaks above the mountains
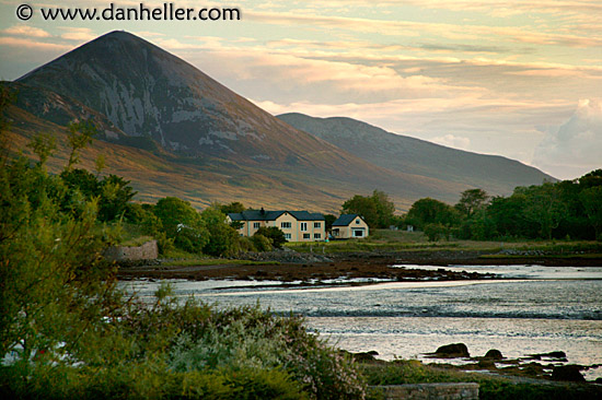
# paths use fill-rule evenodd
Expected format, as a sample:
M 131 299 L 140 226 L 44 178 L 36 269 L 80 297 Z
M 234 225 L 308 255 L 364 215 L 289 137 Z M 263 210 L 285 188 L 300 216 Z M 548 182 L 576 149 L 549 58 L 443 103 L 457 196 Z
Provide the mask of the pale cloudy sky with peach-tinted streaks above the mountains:
M 600 0 L 172 3 L 239 8 L 241 20 L 45 21 L 42 8 L 102 11 L 111 0 L 42 0 L 20 21 L 22 2 L 0 0 L 0 79 L 125 30 L 275 115 L 351 117 L 558 178 L 602 168 Z

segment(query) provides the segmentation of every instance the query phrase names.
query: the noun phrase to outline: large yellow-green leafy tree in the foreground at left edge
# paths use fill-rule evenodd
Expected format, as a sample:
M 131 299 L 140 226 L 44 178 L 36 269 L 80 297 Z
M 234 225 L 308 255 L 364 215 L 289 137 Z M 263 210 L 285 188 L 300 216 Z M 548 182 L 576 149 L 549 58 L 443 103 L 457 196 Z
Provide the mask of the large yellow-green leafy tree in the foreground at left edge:
M 0 357 L 60 363 L 101 334 L 120 298 L 101 257 L 113 233 L 95 225 L 95 200 L 63 210 L 65 197 L 84 197 L 24 157 L 0 168 Z

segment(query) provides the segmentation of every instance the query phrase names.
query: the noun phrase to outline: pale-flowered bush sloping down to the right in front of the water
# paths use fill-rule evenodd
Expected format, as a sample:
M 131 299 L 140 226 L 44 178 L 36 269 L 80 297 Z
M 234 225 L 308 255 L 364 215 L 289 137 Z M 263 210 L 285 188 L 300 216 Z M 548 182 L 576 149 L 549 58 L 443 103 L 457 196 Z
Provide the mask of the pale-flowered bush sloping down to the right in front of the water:
M 123 334 L 140 336 L 141 343 L 166 343 L 170 370 L 277 369 L 290 376 L 310 398 L 364 396 L 355 364 L 309 333 L 297 317 L 277 317 L 258 306 L 215 310 L 189 299 L 184 305 L 164 302 L 140 309 L 130 320 L 135 323 Z M 162 327 L 173 328 L 171 338 L 164 336 Z

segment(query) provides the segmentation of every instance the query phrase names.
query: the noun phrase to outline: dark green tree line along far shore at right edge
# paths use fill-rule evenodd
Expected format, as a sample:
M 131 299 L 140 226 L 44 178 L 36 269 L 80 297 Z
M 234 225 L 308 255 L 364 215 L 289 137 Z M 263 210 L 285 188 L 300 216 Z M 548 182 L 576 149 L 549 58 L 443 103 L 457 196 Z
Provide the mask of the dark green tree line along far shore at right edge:
M 575 180 L 517 187 L 511 196 L 483 189 L 462 192 L 454 205 L 416 201 L 402 225 L 422 230 L 430 240 L 602 239 L 602 169 Z

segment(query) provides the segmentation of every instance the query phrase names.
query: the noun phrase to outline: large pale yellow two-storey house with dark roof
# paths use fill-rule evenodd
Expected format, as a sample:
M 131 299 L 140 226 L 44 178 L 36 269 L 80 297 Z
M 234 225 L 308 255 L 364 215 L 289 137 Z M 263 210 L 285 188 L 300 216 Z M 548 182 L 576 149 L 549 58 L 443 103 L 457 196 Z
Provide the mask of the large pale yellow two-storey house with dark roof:
M 319 242 L 326 239 L 324 215 L 308 211 L 245 210 L 228 214 L 230 222 L 242 223 L 241 236 L 253 236 L 262 226 L 276 226 L 289 242 Z

